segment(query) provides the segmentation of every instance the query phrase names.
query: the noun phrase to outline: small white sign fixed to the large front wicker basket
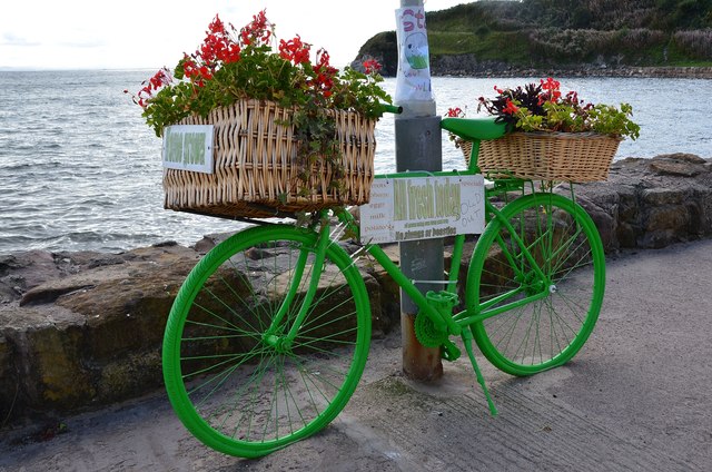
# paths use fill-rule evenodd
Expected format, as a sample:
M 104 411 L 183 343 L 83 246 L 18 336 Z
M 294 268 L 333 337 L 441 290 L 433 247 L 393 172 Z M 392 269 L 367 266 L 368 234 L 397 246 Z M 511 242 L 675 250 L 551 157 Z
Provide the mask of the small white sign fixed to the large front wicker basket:
M 212 125 L 174 125 L 164 129 L 164 167 L 212 174 Z

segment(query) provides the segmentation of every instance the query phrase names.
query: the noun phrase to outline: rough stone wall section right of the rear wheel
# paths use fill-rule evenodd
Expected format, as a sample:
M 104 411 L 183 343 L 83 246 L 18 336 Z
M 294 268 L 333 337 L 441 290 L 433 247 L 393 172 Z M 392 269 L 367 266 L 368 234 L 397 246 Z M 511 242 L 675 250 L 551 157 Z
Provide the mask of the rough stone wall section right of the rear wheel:
M 712 164 L 690 154 L 614 163 L 609 181 L 577 186 L 606 253 L 712 235 Z

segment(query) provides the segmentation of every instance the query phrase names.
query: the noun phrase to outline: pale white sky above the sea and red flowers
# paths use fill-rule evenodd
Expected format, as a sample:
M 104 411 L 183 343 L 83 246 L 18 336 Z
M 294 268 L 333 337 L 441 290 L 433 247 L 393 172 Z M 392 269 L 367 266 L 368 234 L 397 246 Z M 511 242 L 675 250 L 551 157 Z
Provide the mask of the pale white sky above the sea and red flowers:
M 408 1 L 415 3 L 416 1 Z M 468 0 L 425 0 L 437 11 Z M 0 9 L 0 69 L 172 68 L 195 52 L 215 14 L 236 28 L 266 9 L 278 39 L 299 35 L 332 65 L 356 58 L 370 37 L 395 30 L 398 0 L 19 0 Z M 334 6 L 338 4 L 339 12 Z M 330 6 L 330 7 L 329 7 Z

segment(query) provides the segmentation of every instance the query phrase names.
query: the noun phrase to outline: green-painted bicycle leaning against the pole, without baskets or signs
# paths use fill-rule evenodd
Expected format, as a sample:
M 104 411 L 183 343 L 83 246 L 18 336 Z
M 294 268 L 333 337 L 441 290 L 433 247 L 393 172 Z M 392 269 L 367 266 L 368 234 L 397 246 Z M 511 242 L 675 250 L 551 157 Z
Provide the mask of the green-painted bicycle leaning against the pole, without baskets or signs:
M 478 174 L 481 140 L 504 134 L 486 119 L 446 118 L 442 127 L 473 150 L 466 171 L 438 176 Z M 217 451 L 256 458 L 334 420 L 368 355 L 373 302 L 359 271 L 366 255 L 419 307 L 422 344 L 454 361 L 461 353 L 451 337 L 462 338 L 493 414 L 473 340 L 513 375 L 571 360 L 603 301 L 595 225 L 574 201 L 573 185 L 562 196 L 528 180 L 494 179 L 485 196 L 486 227 L 459 286 L 464 304 L 457 295 L 464 235 L 454 237 L 445 289 L 426 295 L 380 246 L 344 237 L 359 232 L 346 210 L 323 212 L 308 227 L 260 224 L 217 245 L 181 286 L 165 333 L 166 389 L 185 426 Z

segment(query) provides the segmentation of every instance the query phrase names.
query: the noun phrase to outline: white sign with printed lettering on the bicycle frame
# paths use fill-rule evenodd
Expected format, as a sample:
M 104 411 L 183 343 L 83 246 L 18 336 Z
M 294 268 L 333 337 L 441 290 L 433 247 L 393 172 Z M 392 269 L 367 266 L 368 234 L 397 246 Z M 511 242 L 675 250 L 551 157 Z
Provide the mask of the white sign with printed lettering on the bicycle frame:
M 363 243 L 481 234 L 485 226 L 482 175 L 376 178 L 360 208 Z

